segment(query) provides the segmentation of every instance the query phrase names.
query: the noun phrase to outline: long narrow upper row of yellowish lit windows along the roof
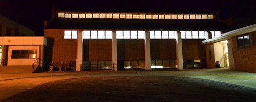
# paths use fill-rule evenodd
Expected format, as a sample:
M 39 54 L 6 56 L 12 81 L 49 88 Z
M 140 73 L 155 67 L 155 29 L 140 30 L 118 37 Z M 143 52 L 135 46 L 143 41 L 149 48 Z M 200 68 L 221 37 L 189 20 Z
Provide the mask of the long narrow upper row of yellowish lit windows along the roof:
M 190 14 L 93 14 L 58 13 L 58 18 L 103 18 L 103 19 L 214 19 L 214 15 Z

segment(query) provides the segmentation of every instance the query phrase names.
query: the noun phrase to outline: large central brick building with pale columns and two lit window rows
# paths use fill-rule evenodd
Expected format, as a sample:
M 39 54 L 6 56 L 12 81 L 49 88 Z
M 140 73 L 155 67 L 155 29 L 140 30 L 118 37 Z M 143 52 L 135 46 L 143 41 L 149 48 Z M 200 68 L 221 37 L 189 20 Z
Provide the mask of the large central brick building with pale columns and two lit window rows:
M 207 67 L 202 41 L 228 30 L 215 16 L 53 11 L 45 22 L 45 66 L 75 63 L 77 71 L 80 65 L 113 70 Z

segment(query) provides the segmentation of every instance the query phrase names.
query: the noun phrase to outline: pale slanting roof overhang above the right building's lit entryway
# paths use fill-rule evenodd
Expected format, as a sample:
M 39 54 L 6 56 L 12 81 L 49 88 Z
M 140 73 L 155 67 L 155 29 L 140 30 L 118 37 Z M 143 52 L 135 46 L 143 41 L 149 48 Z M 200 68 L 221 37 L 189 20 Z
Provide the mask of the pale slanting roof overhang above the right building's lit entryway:
M 236 29 L 236 30 L 232 30 L 232 31 L 229 31 L 229 32 L 226 32 L 226 33 L 222 33 L 221 37 L 217 37 L 217 38 L 209 39 L 209 40 L 204 40 L 204 41 L 202 41 L 202 43 L 203 44 L 210 44 L 210 43 L 225 41 L 225 40 L 231 39 L 234 36 L 243 35 L 244 33 L 252 32 L 252 31 L 256 31 L 256 24 L 246 26 L 246 27 L 243 27 L 243 28 L 239 28 L 239 29 Z

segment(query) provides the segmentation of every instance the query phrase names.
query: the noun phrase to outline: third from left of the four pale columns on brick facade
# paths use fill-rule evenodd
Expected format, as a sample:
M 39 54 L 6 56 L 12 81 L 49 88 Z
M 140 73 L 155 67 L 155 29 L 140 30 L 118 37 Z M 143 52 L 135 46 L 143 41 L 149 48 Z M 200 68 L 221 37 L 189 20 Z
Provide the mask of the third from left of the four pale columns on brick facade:
M 145 70 L 151 70 L 150 31 L 145 32 Z

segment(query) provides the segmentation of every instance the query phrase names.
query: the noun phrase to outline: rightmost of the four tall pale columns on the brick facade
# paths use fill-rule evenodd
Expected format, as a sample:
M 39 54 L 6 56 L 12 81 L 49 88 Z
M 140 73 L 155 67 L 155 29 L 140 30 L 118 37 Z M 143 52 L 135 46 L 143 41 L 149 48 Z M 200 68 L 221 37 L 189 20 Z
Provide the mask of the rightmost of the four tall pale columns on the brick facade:
M 175 32 L 175 39 L 176 39 L 176 63 L 177 69 L 183 70 L 183 54 L 182 54 L 182 39 L 181 39 L 181 32 Z

